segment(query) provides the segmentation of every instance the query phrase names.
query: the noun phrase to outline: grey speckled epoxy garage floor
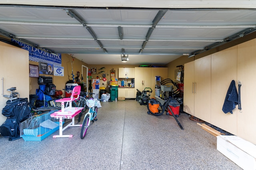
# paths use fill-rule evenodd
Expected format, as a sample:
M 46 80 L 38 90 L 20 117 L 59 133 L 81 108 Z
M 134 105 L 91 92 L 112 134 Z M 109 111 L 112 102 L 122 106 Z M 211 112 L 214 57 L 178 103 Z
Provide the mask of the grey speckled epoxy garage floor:
M 147 114 L 135 100 L 101 102 L 98 121 L 84 139 L 80 127 L 35 141 L 0 136 L 0 169 L 10 170 L 240 170 L 216 150 L 216 137 L 181 113 L 181 130 L 170 115 Z M 77 121 L 76 121 L 77 122 Z

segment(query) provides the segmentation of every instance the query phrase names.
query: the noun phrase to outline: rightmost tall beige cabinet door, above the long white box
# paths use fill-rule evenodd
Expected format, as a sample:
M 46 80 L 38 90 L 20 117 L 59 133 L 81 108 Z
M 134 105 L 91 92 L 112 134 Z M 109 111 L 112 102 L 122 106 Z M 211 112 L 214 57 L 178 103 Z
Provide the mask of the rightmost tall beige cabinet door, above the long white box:
M 256 39 L 238 45 L 237 80 L 241 86 L 242 112 L 237 111 L 237 135 L 256 145 Z

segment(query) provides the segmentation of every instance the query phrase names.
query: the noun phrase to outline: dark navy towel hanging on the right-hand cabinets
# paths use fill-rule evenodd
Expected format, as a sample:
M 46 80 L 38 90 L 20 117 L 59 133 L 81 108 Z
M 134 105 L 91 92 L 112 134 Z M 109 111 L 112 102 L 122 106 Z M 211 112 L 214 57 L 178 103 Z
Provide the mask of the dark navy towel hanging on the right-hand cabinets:
M 230 112 L 231 114 L 233 114 L 232 110 L 236 108 L 236 105 L 238 105 L 238 93 L 236 90 L 236 83 L 234 80 L 232 80 L 226 94 L 222 111 L 224 113 Z

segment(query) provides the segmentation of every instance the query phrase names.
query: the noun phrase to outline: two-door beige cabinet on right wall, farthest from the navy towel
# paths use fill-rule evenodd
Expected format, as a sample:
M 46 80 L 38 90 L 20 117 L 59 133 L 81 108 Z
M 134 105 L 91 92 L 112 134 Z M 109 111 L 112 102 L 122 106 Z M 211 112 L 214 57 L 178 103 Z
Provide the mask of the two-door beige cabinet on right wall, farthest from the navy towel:
M 186 89 L 186 90 L 185 90 Z M 184 111 L 204 121 L 211 117 L 211 56 L 184 65 Z

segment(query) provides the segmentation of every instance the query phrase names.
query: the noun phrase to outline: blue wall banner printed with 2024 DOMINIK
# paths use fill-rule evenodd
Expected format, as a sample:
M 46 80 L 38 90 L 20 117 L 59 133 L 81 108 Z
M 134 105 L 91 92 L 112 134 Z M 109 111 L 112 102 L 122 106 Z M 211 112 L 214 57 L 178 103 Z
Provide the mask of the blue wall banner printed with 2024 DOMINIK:
M 36 47 L 32 47 L 30 45 L 26 45 L 25 43 L 21 43 L 20 41 L 16 41 L 12 39 L 12 41 L 18 43 L 18 45 L 22 46 L 22 49 L 29 51 L 29 60 L 36 62 L 43 62 L 52 64 L 55 66 L 61 66 L 61 54 L 51 54 Z

